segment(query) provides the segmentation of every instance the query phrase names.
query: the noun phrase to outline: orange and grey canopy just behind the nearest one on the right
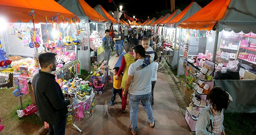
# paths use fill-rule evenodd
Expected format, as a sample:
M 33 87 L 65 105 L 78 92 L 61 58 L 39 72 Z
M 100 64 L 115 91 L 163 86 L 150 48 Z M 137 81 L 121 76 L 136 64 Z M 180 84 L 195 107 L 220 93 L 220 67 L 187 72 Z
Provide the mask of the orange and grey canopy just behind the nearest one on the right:
M 196 2 L 191 2 L 189 6 L 187 6 L 180 14 L 168 21 L 166 25 L 176 27 L 176 23 L 183 22 L 184 20 L 188 19 L 196 12 L 198 12 L 200 9 L 202 9 L 200 5 L 198 5 Z

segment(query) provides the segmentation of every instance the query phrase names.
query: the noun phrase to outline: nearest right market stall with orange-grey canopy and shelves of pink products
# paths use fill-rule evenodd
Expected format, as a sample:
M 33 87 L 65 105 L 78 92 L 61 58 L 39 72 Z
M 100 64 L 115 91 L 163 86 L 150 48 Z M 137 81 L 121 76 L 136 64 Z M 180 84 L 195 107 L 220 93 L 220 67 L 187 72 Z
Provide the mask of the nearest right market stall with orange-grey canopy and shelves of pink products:
M 232 96 L 233 101 L 227 109 L 227 111 L 231 112 L 256 111 L 254 100 L 256 95 L 256 67 L 254 64 L 256 12 L 252 6 L 255 4 L 255 1 L 252 0 L 244 1 L 244 5 L 240 5 L 237 0 L 213 0 L 179 25 L 179 27 L 190 29 L 188 30 L 188 35 L 196 34 L 193 32 L 196 32 L 196 30 L 192 29 L 208 33 L 212 29 L 216 29 L 214 46 L 211 44 L 208 47 L 212 48 L 213 56 L 206 53 L 204 55 L 200 54 L 202 57 L 198 55 L 195 59 L 185 57 L 186 64 L 184 64 L 184 68 L 187 82 L 183 83 L 183 86 L 196 83 L 195 80 L 191 79 L 193 74 L 187 74 L 190 72 L 191 67 L 201 71 L 207 78 L 209 70 L 204 69 L 203 65 L 208 65 L 206 64 L 208 63 L 207 59 L 210 60 L 212 58 L 215 65 L 215 68 L 212 66 L 214 69 L 212 74 L 214 86 L 220 86 Z M 210 36 L 214 37 L 214 35 Z M 203 60 L 201 61 L 201 59 Z M 184 93 L 198 91 L 198 89 L 194 90 L 193 88 L 194 85 L 188 86 L 185 88 L 186 91 Z M 187 99 L 190 100 L 189 98 Z M 195 102 L 192 103 L 192 107 L 193 105 L 196 106 Z M 193 114 L 189 112 L 195 109 L 187 109 L 185 116 L 192 131 L 194 131 L 197 120 L 192 115 L 200 112 Z

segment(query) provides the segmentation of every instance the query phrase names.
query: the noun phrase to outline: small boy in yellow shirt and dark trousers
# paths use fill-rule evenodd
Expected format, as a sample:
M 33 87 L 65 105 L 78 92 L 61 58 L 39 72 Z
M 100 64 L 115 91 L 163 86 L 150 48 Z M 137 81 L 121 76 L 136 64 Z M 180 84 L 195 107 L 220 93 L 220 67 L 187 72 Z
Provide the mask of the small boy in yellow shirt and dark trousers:
M 115 67 L 113 68 L 113 78 L 116 77 L 116 74 L 119 71 L 119 67 Z M 122 89 L 121 89 L 121 83 L 122 83 L 122 78 L 123 76 L 119 76 L 119 78 L 113 79 L 113 91 L 112 91 L 112 96 L 111 96 L 111 101 L 109 103 L 109 105 L 114 105 L 114 101 L 116 100 L 116 93 L 118 93 L 118 95 L 120 96 L 120 98 L 122 99 Z

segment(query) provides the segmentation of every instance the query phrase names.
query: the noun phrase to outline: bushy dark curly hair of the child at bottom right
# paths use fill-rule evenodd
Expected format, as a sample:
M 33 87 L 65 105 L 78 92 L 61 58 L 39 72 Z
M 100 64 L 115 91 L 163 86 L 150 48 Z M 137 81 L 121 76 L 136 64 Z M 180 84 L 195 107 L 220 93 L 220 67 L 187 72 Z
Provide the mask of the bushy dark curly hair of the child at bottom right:
M 217 111 L 228 108 L 228 93 L 220 87 L 213 87 L 206 96 L 206 100 L 210 100 L 211 105 L 216 106 Z

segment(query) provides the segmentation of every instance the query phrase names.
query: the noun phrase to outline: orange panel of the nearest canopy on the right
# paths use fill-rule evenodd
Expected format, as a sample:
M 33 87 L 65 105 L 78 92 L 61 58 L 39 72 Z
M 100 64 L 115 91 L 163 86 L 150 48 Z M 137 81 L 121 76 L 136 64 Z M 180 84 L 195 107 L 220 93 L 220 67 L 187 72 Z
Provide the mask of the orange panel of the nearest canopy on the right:
M 230 0 L 213 0 L 197 13 L 181 22 L 178 27 L 184 29 L 212 30 L 217 21 L 227 11 Z

